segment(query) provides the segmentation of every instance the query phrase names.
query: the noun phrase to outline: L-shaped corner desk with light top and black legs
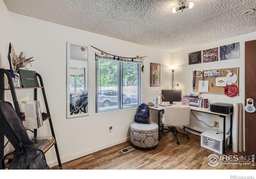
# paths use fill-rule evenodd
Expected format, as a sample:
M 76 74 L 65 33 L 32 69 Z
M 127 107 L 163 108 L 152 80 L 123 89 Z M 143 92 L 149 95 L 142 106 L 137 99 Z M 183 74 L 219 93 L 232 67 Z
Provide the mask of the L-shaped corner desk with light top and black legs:
M 188 106 L 188 105 L 181 105 L 181 104 L 174 104 L 175 106 Z M 227 116 L 230 116 L 230 142 L 229 142 L 229 145 L 228 146 L 225 146 L 225 135 L 223 135 L 223 148 L 222 148 L 222 153 L 225 154 L 225 151 L 230 148 L 230 146 L 232 145 L 232 112 L 230 114 L 222 114 L 222 113 L 218 113 L 218 112 L 212 112 L 209 110 L 209 108 L 199 108 L 199 107 L 196 107 L 196 106 L 189 106 L 190 109 L 192 111 L 198 111 L 198 112 L 204 112 L 204 113 L 207 113 L 207 114 L 213 114 L 213 115 L 218 115 L 220 116 L 221 118 L 223 118 L 223 134 L 226 134 L 226 117 Z M 159 106 L 158 105 L 158 108 L 155 108 L 154 106 L 148 106 L 148 108 L 152 109 L 152 110 L 157 110 L 158 111 L 158 142 L 160 142 L 160 139 L 162 138 L 161 135 L 160 135 L 160 112 L 163 112 L 164 113 L 164 108 L 165 106 Z M 189 129 L 189 130 L 193 130 L 195 132 L 198 132 L 198 133 L 202 133 L 202 132 L 199 132 L 199 131 L 196 131 L 194 129 L 191 129 L 191 128 L 188 128 L 188 127 L 185 127 L 184 126 L 184 130 L 185 128 Z

